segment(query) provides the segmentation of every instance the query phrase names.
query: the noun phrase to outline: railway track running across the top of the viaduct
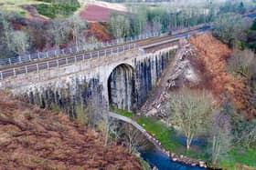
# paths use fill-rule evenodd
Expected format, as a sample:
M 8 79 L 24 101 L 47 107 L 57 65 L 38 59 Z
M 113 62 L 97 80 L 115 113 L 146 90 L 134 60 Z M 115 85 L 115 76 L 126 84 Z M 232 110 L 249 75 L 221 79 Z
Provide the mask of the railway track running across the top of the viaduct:
M 59 55 L 57 57 L 50 57 L 44 59 L 38 59 L 31 62 L 15 64 L 15 65 L 5 65 L 0 68 L 0 80 L 6 77 L 23 75 L 31 72 L 39 72 L 40 70 L 49 69 L 52 67 L 59 67 L 61 65 L 70 65 L 80 61 L 88 60 L 90 58 L 96 58 L 106 55 L 117 55 L 125 51 L 130 51 L 135 48 L 150 49 L 155 48 L 157 45 L 176 43 L 180 36 L 183 35 L 194 35 L 200 28 L 195 30 L 189 30 L 182 32 L 177 35 L 161 35 L 158 37 L 151 37 L 144 40 L 139 40 L 133 44 L 125 43 L 123 45 L 114 45 L 112 47 L 105 47 L 97 51 L 91 52 L 79 52 L 69 55 Z

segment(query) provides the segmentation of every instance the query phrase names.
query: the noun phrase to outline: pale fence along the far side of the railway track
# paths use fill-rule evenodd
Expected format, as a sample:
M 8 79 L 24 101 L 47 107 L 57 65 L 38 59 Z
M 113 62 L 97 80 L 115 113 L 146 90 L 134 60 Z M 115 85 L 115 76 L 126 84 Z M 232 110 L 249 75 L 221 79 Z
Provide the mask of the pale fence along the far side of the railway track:
M 1 65 L 21 64 L 21 63 L 31 62 L 31 61 L 35 61 L 43 58 L 48 58 L 48 57 L 57 57 L 59 55 L 70 55 L 70 54 L 79 53 L 79 52 L 96 50 L 102 47 L 121 45 L 124 43 L 132 43 L 134 41 L 139 41 L 139 40 L 143 40 L 146 38 L 155 37 L 159 35 L 161 35 L 161 33 L 155 32 L 150 34 L 135 35 L 133 37 L 115 39 L 105 43 L 95 43 L 95 44 L 86 44 L 86 45 L 78 45 L 78 46 L 74 45 L 71 47 L 63 48 L 63 49 L 54 49 L 46 52 L 37 52 L 29 55 L 19 55 L 12 58 L 3 58 L 3 59 L 0 59 L 0 67 Z

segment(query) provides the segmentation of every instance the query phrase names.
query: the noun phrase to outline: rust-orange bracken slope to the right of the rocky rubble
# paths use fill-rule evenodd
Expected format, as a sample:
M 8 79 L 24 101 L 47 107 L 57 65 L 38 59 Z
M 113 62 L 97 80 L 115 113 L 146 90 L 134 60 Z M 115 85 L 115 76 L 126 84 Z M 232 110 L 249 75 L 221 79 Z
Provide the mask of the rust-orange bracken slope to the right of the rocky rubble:
M 189 42 L 195 45 L 199 55 L 191 59 L 204 77 L 199 87 L 211 90 L 219 97 L 220 102 L 224 102 L 227 98 L 233 100 L 248 118 L 255 115 L 251 107 L 251 95 L 247 89 L 248 81 L 227 72 L 227 59 L 231 55 L 229 47 L 211 34 L 194 36 Z

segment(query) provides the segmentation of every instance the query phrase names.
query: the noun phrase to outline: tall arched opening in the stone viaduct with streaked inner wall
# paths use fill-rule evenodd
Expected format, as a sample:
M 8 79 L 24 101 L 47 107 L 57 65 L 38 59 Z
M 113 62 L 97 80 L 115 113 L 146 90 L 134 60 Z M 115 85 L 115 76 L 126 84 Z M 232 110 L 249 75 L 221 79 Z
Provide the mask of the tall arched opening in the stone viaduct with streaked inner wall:
M 111 107 L 132 111 L 134 108 L 134 69 L 132 65 L 117 65 L 108 77 Z

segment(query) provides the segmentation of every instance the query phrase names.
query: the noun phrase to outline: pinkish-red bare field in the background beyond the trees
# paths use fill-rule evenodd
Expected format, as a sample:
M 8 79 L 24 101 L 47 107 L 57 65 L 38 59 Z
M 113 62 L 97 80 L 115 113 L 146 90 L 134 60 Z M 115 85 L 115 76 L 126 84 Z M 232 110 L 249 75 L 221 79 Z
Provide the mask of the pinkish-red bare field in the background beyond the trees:
M 108 22 L 110 20 L 111 14 L 114 12 L 121 13 L 120 11 L 116 11 L 99 5 L 88 5 L 84 8 L 83 11 L 80 12 L 80 18 L 91 22 Z

